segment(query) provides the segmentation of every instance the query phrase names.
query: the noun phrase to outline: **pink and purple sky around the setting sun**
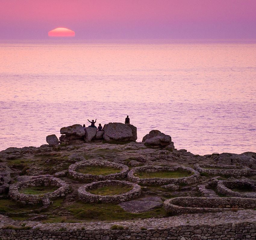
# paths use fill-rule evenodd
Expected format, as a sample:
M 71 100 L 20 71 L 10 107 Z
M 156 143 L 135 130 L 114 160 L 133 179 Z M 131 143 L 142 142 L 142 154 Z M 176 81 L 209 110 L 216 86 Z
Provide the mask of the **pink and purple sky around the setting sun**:
M 0 0 L 0 39 L 256 38 L 256 0 Z

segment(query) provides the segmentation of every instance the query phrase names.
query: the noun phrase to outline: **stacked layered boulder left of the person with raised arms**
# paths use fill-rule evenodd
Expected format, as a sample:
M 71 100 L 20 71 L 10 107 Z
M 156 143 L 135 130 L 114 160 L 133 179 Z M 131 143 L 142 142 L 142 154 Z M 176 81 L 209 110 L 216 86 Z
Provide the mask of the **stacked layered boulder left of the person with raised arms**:
M 61 128 L 60 143 L 65 145 L 84 143 L 85 130 L 82 125 L 74 124 L 72 126 Z

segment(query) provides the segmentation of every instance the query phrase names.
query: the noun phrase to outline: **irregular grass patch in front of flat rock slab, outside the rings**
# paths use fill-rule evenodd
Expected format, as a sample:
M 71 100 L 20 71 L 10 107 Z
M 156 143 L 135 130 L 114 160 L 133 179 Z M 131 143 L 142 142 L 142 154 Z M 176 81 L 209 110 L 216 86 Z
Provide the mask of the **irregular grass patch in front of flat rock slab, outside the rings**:
M 80 220 L 130 220 L 135 218 L 166 217 L 164 208 L 143 213 L 129 213 L 111 203 L 74 202 L 67 206 L 73 217 Z

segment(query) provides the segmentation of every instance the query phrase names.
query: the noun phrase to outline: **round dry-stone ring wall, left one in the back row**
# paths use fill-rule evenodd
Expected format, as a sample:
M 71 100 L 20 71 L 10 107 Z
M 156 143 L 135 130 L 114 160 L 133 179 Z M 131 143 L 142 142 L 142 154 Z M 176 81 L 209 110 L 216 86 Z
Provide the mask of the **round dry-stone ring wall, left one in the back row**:
M 79 173 L 77 170 L 81 167 L 85 166 L 99 166 L 99 167 L 114 167 L 121 169 L 120 173 L 111 173 L 108 175 L 93 175 L 93 174 L 84 174 Z M 68 168 L 68 173 L 70 176 L 72 176 L 75 179 L 81 180 L 81 181 L 104 181 L 104 180 L 114 180 L 117 178 L 125 178 L 127 176 L 127 173 L 129 172 L 129 167 L 123 164 L 118 164 L 114 162 L 108 162 L 108 161 L 92 161 L 92 160 L 85 160 L 80 161 L 75 164 L 72 164 Z

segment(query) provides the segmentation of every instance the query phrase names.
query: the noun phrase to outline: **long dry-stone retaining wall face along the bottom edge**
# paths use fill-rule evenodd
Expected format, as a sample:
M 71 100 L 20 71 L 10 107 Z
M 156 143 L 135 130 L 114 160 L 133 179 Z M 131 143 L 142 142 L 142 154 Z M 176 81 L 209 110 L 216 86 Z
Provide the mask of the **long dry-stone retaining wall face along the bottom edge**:
M 177 226 L 166 229 L 148 230 L 76 230 L 76 231 L 40 231 L 0 229 L 2 240 L 201 240 L 201 239 L 255 239 L 256 223 L 228 223 L 216 226 Z

